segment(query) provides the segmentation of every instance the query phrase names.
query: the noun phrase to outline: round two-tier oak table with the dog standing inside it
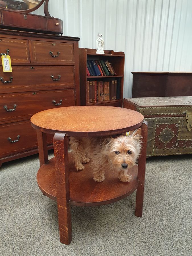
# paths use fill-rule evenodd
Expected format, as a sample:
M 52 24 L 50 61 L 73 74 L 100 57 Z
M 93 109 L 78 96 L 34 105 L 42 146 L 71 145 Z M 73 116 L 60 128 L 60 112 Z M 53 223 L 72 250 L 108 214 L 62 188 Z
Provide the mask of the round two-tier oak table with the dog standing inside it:
M 31 117 L 37 130 L 40 169 L 37 182 L 44 195 L 57 201 L 61 243 L 72 240 L 70 205 L 96 206 L 123 199 L 137 189 L 135 215 L 143 210 L 146 165 L 147 123 L 141 113 L 109 106 L 75 106 L 45 110 Z M 116 172 L 106 172 L 105 180 L 93 180 L 89 163 L 76 171 L 68 153 L 69 137 L 99 137 L 117 135 L 141 128 L 143 137 L 138 166 L 129 169 L 130 182 L 121 182 Z M 54 134 L 55 157 L 48 160 L 46 134 Z

